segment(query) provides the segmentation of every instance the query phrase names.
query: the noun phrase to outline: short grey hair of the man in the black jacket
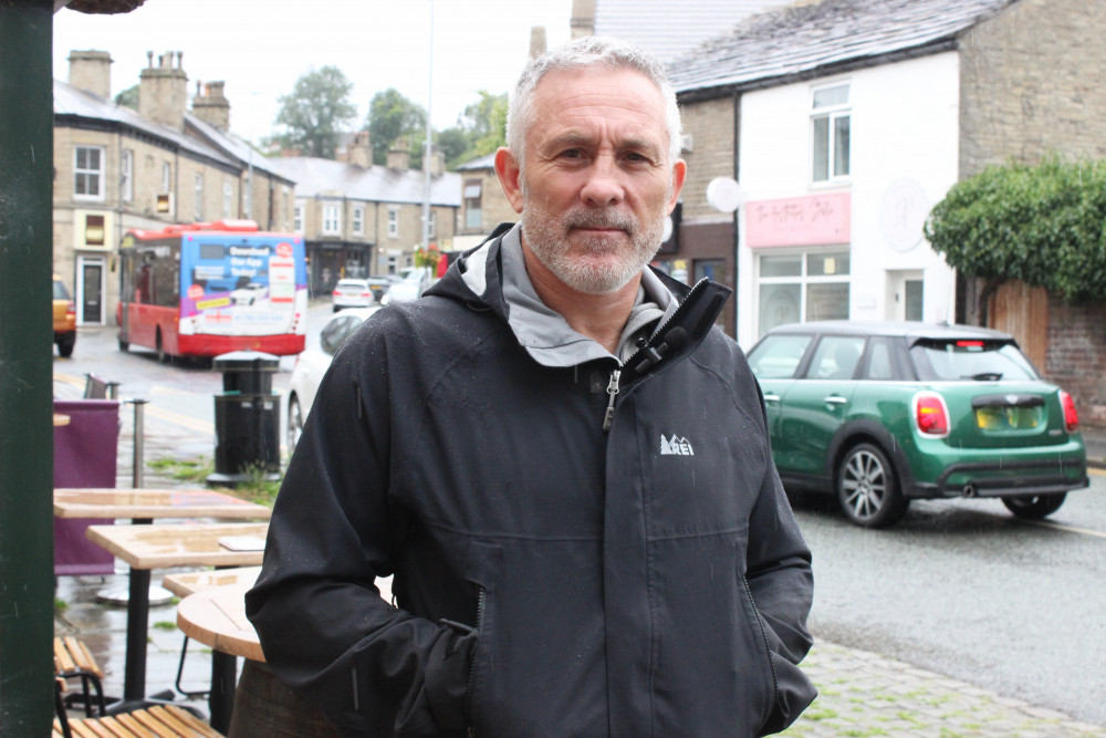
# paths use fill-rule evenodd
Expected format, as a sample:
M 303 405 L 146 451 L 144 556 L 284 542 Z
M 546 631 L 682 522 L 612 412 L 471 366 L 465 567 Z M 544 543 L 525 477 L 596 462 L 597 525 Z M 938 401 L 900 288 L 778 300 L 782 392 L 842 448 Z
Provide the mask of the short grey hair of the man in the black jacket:
M 550 72 L 574 71 L 601 64 L 612 70 L 635 70 L 657 86 L 665 101 L 668 154 L 672 162 L 679 158 L 680 108 L 676 104 L 676 91 L 668 82 L 664 65 L 645 49 L 609 37 L 589 35 L 531 59 L 522 70 L 507 111 L 507 146 L 520 167 L 525 156 L 526 131 L 533 125 L 536 115 L 534 90 L 538 83 Z

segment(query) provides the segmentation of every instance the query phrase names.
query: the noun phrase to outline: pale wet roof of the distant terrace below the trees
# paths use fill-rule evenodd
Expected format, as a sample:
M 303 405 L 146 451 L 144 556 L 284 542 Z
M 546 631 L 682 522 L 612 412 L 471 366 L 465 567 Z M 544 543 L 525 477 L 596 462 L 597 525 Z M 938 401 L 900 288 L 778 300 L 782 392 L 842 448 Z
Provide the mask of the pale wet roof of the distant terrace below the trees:
M 371 202 L 421 204 L 424 174 L 418 169 L 362 167 L 312 156 L 273 159 L 281 171 L 295 180 L 296 197 L 345 197 Z M 461 175 L 446 171 L 430 178 L 430 204 L 461 206 Z

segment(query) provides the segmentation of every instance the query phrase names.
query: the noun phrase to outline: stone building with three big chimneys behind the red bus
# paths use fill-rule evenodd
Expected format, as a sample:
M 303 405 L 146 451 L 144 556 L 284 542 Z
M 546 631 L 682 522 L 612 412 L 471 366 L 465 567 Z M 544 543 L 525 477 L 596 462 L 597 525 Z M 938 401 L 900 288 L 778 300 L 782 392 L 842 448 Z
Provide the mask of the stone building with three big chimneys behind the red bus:
M 107 52 L 69 61 L 69 82 L 54 81 L 52 247 L 79 324 L 114 323 L 129 229 L 234 218 L 291 229 L 295 184 L 229 132 L 222 82 L 198 89 L 189 112 L 181 54 L 150 54 L 136 112 L 112 102 Z

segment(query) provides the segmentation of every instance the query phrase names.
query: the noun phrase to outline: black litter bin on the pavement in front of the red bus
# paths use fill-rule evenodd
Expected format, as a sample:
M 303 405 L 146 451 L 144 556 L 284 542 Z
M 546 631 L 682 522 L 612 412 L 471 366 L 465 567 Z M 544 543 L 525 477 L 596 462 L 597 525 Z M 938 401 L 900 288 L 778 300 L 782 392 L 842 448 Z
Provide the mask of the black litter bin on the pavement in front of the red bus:
M 280 395 L 272 376 L 280 358 L 258 351 L 215 357 L 222 393 L 215 396 L 215 472 L 209 485 L 233 487 L 255 479 L 280 479 Z

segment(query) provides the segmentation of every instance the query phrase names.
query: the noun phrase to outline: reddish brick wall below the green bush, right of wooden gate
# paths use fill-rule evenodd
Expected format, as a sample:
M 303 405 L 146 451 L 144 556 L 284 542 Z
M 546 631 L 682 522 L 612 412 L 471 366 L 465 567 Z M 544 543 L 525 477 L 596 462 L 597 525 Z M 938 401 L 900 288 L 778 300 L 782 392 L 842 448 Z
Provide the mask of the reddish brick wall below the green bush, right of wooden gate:
M 1071 393 L 1082 425 L 1106 429 L 1106 323 L 1102 303 L 1048 298 L 1045 376 Z

